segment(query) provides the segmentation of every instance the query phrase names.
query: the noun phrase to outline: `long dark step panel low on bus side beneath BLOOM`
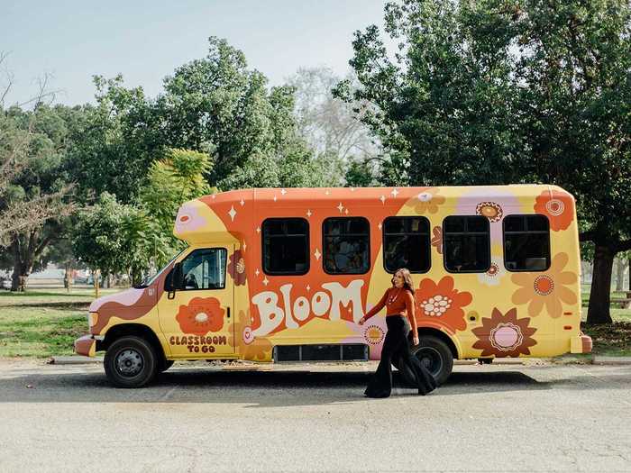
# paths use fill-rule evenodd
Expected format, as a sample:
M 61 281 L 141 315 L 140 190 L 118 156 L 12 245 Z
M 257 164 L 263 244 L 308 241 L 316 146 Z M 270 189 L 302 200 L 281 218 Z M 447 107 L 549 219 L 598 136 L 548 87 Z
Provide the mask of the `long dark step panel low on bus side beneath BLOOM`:
M 274 347 L 275 362 L 282 361 L 368 361 L 368 345 L 277 345 Z

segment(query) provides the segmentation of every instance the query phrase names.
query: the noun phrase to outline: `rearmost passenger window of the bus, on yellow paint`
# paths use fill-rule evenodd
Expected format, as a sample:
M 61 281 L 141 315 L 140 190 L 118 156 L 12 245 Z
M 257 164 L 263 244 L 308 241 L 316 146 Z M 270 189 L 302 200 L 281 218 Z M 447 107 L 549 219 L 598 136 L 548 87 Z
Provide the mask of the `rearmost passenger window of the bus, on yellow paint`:
M 504 217 L 504 266 L 509 271 L 550 268 L 550 223 L 545 215 Z

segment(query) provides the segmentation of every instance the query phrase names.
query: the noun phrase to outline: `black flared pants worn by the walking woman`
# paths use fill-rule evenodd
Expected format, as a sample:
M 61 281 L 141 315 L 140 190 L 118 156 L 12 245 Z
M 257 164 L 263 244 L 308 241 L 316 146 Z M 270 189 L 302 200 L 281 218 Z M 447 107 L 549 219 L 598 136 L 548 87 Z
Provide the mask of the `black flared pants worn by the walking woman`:
M 370 377 L 370 382 L 364 394 L 369 397 L 388 397 L 392 391 L 392 359 L 400 360 L 405 367 L 414 373 L 418 394 L 425 396 L 436 387 L 436 381 L 432 374 L 410 352 L 410 342 L 407 335 L 410 332 L 410 324 L 402 315 L 389 315 L 386 317 L 388 332 L 381 349 L 381 360 L 375 374 Z

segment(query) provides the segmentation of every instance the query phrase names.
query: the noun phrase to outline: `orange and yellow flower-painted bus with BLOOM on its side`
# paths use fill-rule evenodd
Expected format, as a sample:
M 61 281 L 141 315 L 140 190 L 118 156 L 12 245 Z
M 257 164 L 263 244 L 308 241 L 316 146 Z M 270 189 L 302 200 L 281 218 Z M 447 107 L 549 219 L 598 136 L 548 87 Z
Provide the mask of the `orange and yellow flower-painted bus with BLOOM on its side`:
M 414 281 L 414 354 L 439 384 L 454 359 L 591 350 L 574 198 L 558 186 L 233 190 L 181 205 L 174 234 L 186 250 L 96 299 L 75 341 L 105 351 L 114 386 L 178 359 L 378 360 L 385 311 L 358 321 L 398 268 Z

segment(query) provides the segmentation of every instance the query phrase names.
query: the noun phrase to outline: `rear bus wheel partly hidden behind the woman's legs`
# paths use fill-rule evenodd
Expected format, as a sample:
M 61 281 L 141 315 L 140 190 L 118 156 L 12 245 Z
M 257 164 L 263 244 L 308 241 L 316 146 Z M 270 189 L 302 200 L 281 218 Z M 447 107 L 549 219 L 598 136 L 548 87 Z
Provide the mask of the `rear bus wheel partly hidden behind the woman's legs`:
M 441 339 L 432 335 L 421 335 L 418 345 L 412 348 L 412 354 L 432 373 L 437 386 L 442 385 L 452 374 L 453 353 Z M 399 368 L 403 366 L 400 359 L 393 359 L 392 365 L 399 370 L 407 386 L 415 386 L 414 373 L 407 367 Z

